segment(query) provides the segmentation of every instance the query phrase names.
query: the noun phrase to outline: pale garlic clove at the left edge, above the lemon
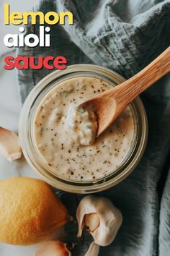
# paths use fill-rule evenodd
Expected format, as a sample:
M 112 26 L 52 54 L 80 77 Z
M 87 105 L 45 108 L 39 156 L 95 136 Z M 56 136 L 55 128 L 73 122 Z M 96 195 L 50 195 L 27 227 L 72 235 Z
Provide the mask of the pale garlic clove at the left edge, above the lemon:
M 0 127 L 0 153 L 9 161 L 17 160 L 22 156 L 22 150 L 18 144 L 18 136 L 3 127 Z

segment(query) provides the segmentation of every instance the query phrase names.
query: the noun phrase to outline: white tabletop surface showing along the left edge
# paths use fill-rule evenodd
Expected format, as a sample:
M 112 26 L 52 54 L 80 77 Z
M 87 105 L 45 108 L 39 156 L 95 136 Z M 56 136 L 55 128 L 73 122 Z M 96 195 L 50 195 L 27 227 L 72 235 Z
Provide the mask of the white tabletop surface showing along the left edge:
M 4 23 L 4 7 L 3 3 L 9 3 L 11 12 L 13 11 L 27 11 L 35 4 L 35 0 L 21 1 L 10 0 L 0 1 L 0 55 L 6 51 L 12 51 L 12 48 L 4 46 L 3 39 L 7 33 L 18 33 L 18 26 L 5 26 Z M 8 54 L 9 55 L 9 54 Z M 19 121 L 19 97 L 17 92 L 17 72 L 16 69 L 6 71 L 4 66 L 4 56 L 0 59 L 0 126 L 12 129 L 17 132 Z M 32 176 L 37 177 L 34 171 L 24 162 L 15 161 L 10 163 L 0 155 L 0 180 L 12 176 Z M 28 195 L 29 196 L 29 195 Z M 0 231 L 1 232 L 1 231 Z M 38 245 L 29 247 L 12 246 L 9 244 L 0 243 L 0 256 L 33 256 Z

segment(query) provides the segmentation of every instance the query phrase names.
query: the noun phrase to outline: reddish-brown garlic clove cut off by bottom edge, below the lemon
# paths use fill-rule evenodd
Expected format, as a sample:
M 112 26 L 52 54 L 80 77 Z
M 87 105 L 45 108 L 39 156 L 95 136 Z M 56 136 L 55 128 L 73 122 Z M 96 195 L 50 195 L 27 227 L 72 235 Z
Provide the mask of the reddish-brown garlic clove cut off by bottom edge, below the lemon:
M 71 256 L 66 244 L 59 241 L 48 241 L 37 249 L 35 256 Z

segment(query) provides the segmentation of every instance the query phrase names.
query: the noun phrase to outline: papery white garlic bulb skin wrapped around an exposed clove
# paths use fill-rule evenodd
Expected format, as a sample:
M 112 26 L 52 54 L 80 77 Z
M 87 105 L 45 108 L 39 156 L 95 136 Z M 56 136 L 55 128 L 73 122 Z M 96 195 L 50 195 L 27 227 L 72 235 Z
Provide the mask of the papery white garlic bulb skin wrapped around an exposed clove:
M 78 236 L 81 236 L 85 226 L 84 216 L 89 213 L 97 213 L 99 217 L 99 226 L 94 231 L 90 231 L 94 242 L 101 246 L 111 244 L 122 224 L 120 210 L 107 198 L 91 195 L 84 197 L 76 211 L 76 218 L 79 224 Z

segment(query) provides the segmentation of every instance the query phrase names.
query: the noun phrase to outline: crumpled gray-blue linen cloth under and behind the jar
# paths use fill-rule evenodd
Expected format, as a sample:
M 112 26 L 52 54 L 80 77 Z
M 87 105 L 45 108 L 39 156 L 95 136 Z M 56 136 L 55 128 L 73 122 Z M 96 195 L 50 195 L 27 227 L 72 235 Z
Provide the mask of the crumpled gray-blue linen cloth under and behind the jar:
M 40 1 L 34 10 L 69 10 L 73 12 L 74 24 L 51 26 L 51 48 L 19 48 L 18 55 L 62 55 L 68 64 L 94 63 L 128 78 L 170 44 L 170 1 L 49 0 Z M 38 34 L 39 26 L 27 26 L 27 33 L 32 32 Z M 48 72 L 46 69 L 18 72 L 22 103 Z M 169 74 L 143 93 L 142 99 L 149 124 L 146 153 L 125 181 L 97 193 L 109 197 L 124 218 L 115 241 L 102 247 L 100 256 L 170 255 Z M 69 202 L 73 197 L 67 193 L 64 196 Z M 75 255 L 83 256 L 86 249 L 86 239 L 81 240 L 81 249 Z

